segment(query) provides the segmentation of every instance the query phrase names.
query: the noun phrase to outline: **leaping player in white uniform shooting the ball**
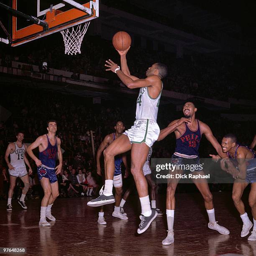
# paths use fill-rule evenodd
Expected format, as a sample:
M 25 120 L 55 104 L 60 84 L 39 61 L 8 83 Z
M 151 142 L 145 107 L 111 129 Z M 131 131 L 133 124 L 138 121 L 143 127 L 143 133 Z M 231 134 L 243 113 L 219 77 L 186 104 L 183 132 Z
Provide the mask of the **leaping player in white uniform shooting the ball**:
M 142 167 L 146 161 L 149 148 L 159 136 L 160 129 L 156 123 L 156 118 L 163 89 L 161 79 L 166 77 L 167 67 L 164 64 L 155 63 L 147 69 L 145 79 L 138 79 L 138 77 L 132 76 L 128 69 L 126 61 L 128 49 L 118 52 L 121 57 L 122 70 L 110 59 L 106 61 L 106 70 L 116 73 L 128 88 L 140 88 L 137 98 L 136 121 L 131 129 L 125 131 L 105 149 L 105 190 L 100 197 L 88 202 L 87 205 L 98 206 L 115 202 L 112 194 L 115 156 L 131 150 L 131 173 L 141 202 L 141 223 L 137 232 L 143 233 L 157 216 L 156 210 L 151 210 L 150 207 L 148 184 Z

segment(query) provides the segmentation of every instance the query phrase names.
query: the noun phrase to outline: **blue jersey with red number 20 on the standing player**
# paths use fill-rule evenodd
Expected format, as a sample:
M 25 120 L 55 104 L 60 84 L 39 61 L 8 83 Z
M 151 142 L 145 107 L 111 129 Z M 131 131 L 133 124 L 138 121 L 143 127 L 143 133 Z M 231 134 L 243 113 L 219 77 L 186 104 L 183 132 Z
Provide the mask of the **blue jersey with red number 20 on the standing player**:
M 51 145 L 51 142 L 49 141 L 47 134 L 46 137 L 47 148 L 44 151 L 39 152 L 39 160 L 42 162 L 44 166 L 49 168 L 55 168 L 58 153 L 57 139 L 55 138 L 55 144 L 53 146 Z

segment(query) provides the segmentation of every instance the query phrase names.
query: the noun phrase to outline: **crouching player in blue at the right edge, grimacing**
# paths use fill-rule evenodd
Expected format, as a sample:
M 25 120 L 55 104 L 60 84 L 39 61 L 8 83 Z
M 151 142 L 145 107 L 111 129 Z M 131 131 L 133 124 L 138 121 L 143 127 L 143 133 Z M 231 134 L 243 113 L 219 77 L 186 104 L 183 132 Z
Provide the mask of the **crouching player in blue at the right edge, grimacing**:
M 221 168 L 233 175 L 232 199 L 236 209 L 240 213 L 243 221 L 241 237 L 245 237 L 253 227 L 249 241 L 256 241 L 256 154 L 251 148 L 241 146 L 237 143 L 237 138 L 233 134 L 226 134 L 221 143 L 224 153 L 228 154 L 228 159 L 221 160 Z M 230 165 L 230 163 L 232 163 Z M 253 215 L 253 223 L 249 220 L 241 197 L 244 189 L 251 183 L 248 202 Z

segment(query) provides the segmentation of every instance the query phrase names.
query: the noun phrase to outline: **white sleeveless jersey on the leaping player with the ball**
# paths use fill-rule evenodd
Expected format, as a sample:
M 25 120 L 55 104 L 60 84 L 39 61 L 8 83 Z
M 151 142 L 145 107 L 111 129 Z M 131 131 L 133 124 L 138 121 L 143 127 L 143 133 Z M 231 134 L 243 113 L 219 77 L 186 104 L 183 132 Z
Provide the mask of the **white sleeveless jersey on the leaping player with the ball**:
M 158 97 L 154 99 L 149 96 L 148 87 L 141 88 L 137 99 L 136 120 L 151 119 L 156 122 L 162 90 L 159 93 Z

